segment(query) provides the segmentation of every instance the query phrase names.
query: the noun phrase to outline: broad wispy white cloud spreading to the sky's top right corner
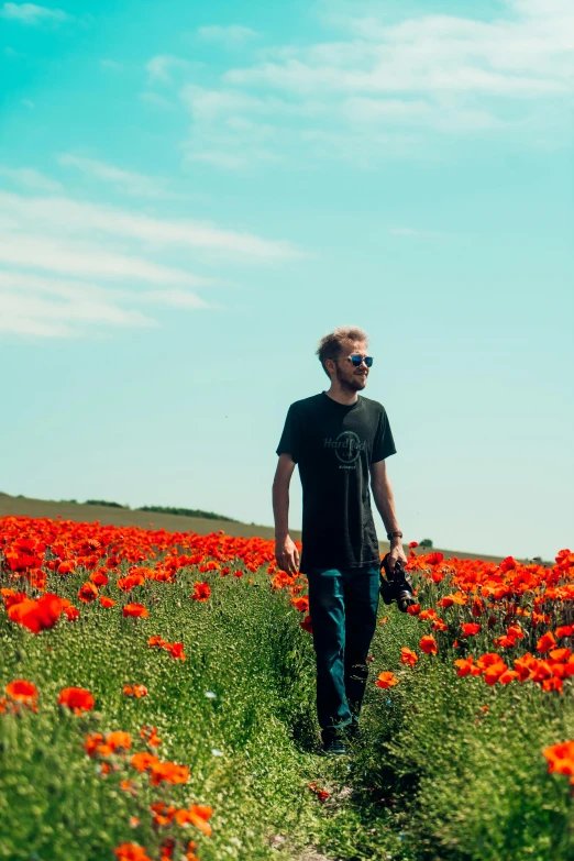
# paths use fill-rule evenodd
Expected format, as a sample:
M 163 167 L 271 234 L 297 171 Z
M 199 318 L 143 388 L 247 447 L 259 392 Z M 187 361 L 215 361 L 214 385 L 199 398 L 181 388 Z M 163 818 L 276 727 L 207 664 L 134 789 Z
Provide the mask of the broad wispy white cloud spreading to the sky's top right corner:
M 224 169 L 257 165 L 257 151 L 313 158 L 429 157 L 438 135 L 497 137 L 534 146 L 569 137 L 574 91 L 574 2 L 508 0 L 490 20 L 449 14 L 373 14 L 353 0 L 334 14 L 339 38 L 278 44 L 229 68 L 219 87 L 187 84 L 188 161 Z M 368 9 L 368 14 L 363 10 Z M 339 35 L 339 34 L 338 34 Z M 368 139 L 365 136 L 368 125 Z M 320 148 L 322 139 L 324 148 Z M 313 147 L 306 146 L 313 141 Z M 413 145 L 411 145 L 413 144 Z

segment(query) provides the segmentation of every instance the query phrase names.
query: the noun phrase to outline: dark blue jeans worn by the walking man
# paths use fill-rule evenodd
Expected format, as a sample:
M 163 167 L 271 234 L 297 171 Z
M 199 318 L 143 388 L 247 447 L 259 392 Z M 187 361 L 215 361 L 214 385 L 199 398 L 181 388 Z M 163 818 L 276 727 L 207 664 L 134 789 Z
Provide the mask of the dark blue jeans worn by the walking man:
M 310 569 L 309 615 L 317 659 L 317 716 L 323 741 L 358 715 L 377 623 L 379 567 Z

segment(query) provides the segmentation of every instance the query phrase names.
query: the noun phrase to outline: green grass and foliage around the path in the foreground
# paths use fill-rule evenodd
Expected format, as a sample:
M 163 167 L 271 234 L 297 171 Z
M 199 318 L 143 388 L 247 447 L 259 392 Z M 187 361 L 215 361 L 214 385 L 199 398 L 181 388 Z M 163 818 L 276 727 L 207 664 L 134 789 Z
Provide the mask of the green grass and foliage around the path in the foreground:
M 78 604 L 86 576 L 52 577 L 51 588 Z M 129 597 L 106 588 L 143 603 L 147 619 L 93 603 L 81 605 L 80 620 L 34 636 L 0 610 L 1 687 L 20 677 L 40 691 L 37 714 L 0 715 L 0 859 L 112 860 L 113 847 L 131 840 L 158 858 L 148 809 L 158 799 L 213 807 L 211 838 L 185 831 L 201 861 L 297 859 L 308 847 L 345 861 L 574 858 L 567 777 L 548 774 L 541 755 L 574 738 L 570 682 L 564 696 L 532 684 L 493 689 L 459 680 L 452 652 L 402 667 L 400 647 L 418 651 L 427 626 L 383 606 L 390 621 L 373 642 L 363 736 L 351 761 L 325 759 L 314 748 L 312 640 L 288 595 L 272 592 L 263 570 L 251 584 L 199 576 L 212 587 L 207 603 L 190 600 L 190 569 L 176 585 L 146 582 Z M 156 633 L 183 641 L 186 662 L 148 649 Z M 399 685 L 376 687 L 383 670 Z M 125 697 L 123 685 L 134 683 L 148 696 Z M 92 713 L 57 705 L 69 685 L 92 692 Z M 187 784 L 154 788 L 120 759 L 120 771 L 102 776 L 81 748 L 86 732 L 121 729 L 143 750 L 144 725 L 157 727 L 162 759 L 189 766 Z M 135 779 L 135 797 L 119 788 L 122 777 Z M 330 793 L 324 804 L 311 781 Z

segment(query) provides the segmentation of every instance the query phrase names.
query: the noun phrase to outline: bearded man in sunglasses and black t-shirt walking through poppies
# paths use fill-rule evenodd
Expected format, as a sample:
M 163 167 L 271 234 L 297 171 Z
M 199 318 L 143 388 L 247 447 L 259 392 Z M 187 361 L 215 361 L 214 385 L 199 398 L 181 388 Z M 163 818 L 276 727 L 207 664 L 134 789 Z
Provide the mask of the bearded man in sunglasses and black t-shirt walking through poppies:
M 373 360 L 367 335 L 340 327 L 319 342 L 328 391 L 289 407 L 273 483 L 275 556 L 309 582 L 317 659 L 317 714 L 327 753 L 346 753 L 358 729 L 367 654 L 375 633 L 380 555 L 371 488 L 390 541 L 390 562 L 405 556 L 385 459 L 395 443 L 385 408 L 358 395 Z M 299 464 L 302 553 L 289 537 L 289 483 Z

